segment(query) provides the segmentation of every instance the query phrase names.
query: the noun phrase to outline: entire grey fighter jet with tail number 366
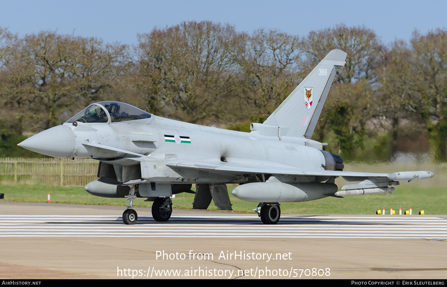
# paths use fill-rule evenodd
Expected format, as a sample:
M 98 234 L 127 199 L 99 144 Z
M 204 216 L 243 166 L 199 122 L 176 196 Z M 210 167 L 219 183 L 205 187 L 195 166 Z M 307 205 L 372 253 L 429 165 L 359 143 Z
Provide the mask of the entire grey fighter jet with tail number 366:
M 343 171 L 340 156 L 311 139 L 316 122 L 346 53 L 330 51 L 264 123 L 251 132 L 206 127 L 162 118 L 134 106 L 101 101 L 67 122 L 19 144 L 54 157 L 90 157 L 98 161 L 97 181 L 84 189 L 92 195 L 127 198 L 125 224 L 138 219 L 136 198 L 152 201 L 152 216 L 167 221 L 173 194 L 195 193 L 194 209 L 232 210 L 227 184 L 239 184 L 232 195 L 259 203 L 264 224 L 276 224 L 280 203 L 328 196 L 390 193 L 398 180 L 434 176 L 430 171 L 361 173 Z M 349 184 L 337 191 L 336 177 Z M 195 184 L 196 191 L 191 190 Z

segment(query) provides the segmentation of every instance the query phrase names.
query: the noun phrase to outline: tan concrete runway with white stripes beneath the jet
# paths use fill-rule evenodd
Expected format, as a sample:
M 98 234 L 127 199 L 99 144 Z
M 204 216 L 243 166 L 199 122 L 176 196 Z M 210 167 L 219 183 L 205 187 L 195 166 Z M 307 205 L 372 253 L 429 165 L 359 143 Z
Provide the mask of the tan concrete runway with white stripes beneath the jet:
M 0 278 L 447 278 L 445 215 L 282 215 L 264 225 L 255 214 L 174 210 L 160 223 L 136 208 L 138 223 L 125 225 L 123 210 L 0 203 Z

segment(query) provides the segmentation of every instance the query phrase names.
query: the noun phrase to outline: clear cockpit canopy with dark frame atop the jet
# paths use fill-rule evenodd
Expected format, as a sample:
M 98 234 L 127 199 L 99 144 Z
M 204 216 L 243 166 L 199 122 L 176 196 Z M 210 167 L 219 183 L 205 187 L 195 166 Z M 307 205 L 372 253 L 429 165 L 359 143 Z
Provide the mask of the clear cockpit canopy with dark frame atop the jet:
M 81 110 L 67 122 L 124 122 L 150 118 L 151 114 L 119 101 L 100 101 Z

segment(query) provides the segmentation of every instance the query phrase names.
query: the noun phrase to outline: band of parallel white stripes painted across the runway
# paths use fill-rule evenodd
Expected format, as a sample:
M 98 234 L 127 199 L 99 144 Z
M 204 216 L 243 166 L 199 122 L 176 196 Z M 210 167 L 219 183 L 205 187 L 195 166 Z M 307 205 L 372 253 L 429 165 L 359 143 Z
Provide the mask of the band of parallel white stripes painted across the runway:
M 447 239 L 447 218 L 293 216 L 264 225 L 256 216 L 139 216 L 125 225 L 114 215 L 1 215 L 0 237 L 251 237 Z

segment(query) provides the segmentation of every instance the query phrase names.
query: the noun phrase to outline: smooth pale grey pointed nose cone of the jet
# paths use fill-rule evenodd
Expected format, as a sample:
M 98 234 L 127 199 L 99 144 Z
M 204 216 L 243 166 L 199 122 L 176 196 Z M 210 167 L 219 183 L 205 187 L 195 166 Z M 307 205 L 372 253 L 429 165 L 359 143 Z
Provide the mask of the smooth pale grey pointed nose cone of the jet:
M 75 148 L 75 134 L 66 125 L 60 125 L 33 135 L 17 145 L 47 156 L 67 157 Z

